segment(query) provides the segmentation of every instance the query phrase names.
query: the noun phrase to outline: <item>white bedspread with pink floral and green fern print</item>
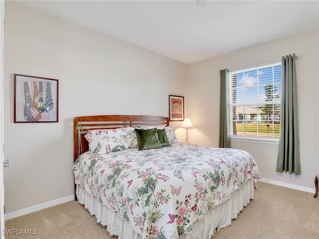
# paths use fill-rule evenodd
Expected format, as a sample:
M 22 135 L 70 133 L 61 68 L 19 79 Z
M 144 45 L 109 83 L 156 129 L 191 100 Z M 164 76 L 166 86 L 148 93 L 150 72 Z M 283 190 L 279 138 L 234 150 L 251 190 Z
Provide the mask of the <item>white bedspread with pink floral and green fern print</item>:
M 177 239 L 247 180 L 260 174 L 253 157 L 230 148 L 181 143 L 160 149 L 86 152 L 75 183 L 129 222 L 143 239 Z

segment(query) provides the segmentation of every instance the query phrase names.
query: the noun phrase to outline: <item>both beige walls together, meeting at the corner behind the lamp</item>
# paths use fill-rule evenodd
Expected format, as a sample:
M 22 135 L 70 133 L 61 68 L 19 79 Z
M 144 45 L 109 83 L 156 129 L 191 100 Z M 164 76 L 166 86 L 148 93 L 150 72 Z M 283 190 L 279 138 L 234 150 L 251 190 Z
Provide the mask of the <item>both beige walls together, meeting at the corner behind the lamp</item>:
M 187 66 L 16 2 L 5 1 L 5 19 L 4 156 L 10 161 L 4 173 L 6 213 L 73 194 L 74 117 L 168 116 L 168 95 L 181 95 L 185 116 L 195 126 L 189 141 L 218 146 L 219 70 L 291 53 L 302 53 L 297 63 L 302 175 L 275 172 L 276 144 L 232 141 L 232 147 L 250 152 L 264 178 L 314 187 L 319 171 L 318 30 Z M 58 123 L 13 123 L 13 74 L 59 80 Z M 171 122 L 183 141 L 180 124 Z

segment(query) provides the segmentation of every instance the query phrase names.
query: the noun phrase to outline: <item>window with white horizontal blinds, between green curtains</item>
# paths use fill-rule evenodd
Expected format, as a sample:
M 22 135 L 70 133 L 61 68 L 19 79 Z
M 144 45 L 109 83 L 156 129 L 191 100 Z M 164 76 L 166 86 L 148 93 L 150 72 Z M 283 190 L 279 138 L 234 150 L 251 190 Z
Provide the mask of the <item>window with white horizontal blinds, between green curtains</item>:
M 229 72 L 230 135 L 279 138 L 281 63 Z

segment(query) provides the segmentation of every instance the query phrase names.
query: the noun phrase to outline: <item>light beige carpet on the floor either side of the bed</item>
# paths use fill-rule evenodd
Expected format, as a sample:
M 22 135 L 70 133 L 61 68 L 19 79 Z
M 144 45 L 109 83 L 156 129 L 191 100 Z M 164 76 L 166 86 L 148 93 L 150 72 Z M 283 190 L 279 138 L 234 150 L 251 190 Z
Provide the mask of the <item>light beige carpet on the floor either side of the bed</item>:
M 5 239 L 117 239 L 96 223 L 83 205 L 71 201 L 5 221 L 5 229 L 38 235 Z M 319 198 L 312 193 L 258 182 L 255 199 L 232 225 L 212 239 L 319 239 Z

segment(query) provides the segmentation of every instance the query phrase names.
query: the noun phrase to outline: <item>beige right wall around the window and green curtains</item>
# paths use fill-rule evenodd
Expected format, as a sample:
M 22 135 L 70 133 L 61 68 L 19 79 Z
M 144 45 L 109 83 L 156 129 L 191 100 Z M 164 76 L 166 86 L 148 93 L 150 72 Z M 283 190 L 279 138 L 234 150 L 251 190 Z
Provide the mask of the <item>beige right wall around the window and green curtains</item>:
M 219 70 L 239 69 L 281 60 L 288 54 L 302 54 L 297 60 L 298 111 L 301 175 L 277 173 L 278 144 L 231 141 L 231 147 L 250 152 L 262 177 L 282 183 L 314 188 L 319 172 L 319 31 L 268 42 L 188 65 L 187 112 L 195 128 L 189 130 L 192 143 L 218 146 Z

